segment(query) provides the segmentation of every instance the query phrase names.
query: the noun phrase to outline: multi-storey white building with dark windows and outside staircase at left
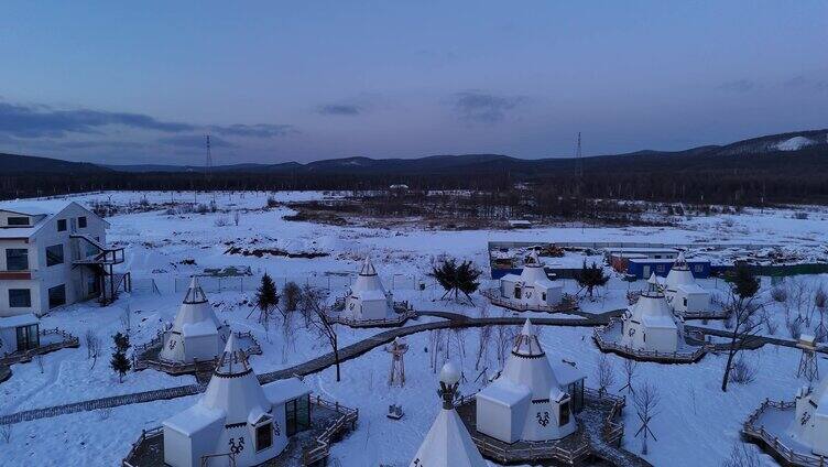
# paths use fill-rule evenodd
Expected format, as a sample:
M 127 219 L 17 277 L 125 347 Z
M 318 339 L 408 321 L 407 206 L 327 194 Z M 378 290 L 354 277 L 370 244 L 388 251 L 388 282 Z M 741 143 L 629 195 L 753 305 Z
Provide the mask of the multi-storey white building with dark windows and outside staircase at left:
M 0 316 L 50 309 L 128 290 L 115 273 L 123 249 L 106 246 L 109 224 L 75 202 L 0 203 Z

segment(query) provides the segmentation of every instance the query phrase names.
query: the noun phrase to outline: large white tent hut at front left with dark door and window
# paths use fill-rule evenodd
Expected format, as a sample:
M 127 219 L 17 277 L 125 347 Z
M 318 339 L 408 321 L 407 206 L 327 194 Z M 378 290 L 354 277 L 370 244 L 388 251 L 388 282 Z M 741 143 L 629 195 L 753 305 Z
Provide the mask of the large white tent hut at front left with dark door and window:
M 227 453 L 237 467 L 272 459 L 287 445 L 285 402 L 308 393 L 295 378 L 262 388 L 231 335 L 201 399 L 164 421 L 164 463 L 197 467 L 205 456 Z

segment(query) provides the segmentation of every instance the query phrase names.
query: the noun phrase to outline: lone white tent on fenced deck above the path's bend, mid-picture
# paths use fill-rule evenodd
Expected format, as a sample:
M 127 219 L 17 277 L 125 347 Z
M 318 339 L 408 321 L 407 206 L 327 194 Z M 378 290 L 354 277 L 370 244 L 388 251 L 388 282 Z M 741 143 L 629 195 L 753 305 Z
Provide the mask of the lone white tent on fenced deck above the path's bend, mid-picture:
M 357 281 L 345 298 L 345 311 L 355 319 L 389 319 L 394 316 L 394 302 L 382 286 L 370 257 L 366 257 Z

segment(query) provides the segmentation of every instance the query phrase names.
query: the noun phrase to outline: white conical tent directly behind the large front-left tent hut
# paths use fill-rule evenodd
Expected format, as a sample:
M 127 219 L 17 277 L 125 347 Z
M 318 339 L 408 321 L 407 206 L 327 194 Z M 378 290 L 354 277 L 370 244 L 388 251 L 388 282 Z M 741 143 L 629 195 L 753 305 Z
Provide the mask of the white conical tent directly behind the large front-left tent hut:
M 161 359 L 177 363 L 213 360 L 221 355 L 230 327 L 218 321 L 193 276 L 173 327 L 164 332 Z

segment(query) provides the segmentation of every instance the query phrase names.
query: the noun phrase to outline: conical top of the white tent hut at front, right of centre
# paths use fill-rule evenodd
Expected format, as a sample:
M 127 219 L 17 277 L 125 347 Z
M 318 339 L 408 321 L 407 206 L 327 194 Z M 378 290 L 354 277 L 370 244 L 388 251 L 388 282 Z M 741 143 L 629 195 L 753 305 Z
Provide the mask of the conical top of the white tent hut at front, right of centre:
M 512 355 L 506 360 L 501 378 L 529 388 L 533 400 L 548 399 L 551 391 L 560 388 L 529 319 L 515 338 Z

